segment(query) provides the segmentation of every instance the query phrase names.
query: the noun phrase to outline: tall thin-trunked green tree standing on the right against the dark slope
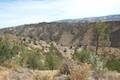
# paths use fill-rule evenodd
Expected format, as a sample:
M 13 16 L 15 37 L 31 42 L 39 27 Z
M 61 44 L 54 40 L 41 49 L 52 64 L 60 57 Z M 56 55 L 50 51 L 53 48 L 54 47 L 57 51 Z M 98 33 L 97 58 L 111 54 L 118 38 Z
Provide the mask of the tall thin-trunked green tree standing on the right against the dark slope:
M 95 30 L 95 40 L 96 40 L 96 50 L 95 50 L 95 53 L 98 54 L 98 49 L 100 47 L 100 45 L 102 46 L 108 46 L 110 43 L 109 43 L 109 35 L 110 35 L 110 26 L 105 23 L 105 22 L 96 22 L 95 25 L 92 25 L 92 27 L 94 28 Z

